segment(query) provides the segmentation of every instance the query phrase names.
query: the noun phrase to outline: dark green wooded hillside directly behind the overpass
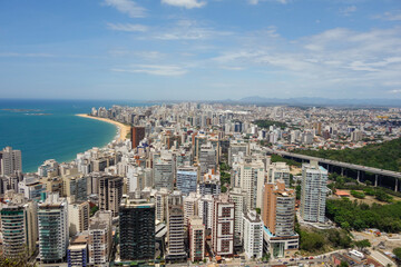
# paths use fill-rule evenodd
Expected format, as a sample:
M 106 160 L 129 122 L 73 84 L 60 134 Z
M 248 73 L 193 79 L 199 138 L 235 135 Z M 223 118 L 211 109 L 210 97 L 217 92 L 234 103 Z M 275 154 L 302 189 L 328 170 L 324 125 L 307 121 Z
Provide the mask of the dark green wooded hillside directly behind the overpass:
M 379 169 L 401 171 L 401 138 L 383 144 L 344 150 L 295 150 L 296 154 L 326 158 Z

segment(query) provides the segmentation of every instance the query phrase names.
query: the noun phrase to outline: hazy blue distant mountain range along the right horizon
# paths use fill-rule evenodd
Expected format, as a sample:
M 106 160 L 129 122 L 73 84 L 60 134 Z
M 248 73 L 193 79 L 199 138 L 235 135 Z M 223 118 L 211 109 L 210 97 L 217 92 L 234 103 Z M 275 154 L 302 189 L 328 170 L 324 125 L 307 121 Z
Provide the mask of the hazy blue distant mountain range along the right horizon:
M 330 98 L 263 98 L 258 96 L 245 97 L 242 103 L 257 105 L 301 105 L 301 106 L 370 106 L 370 107 L 401 107 L 401 99 L 330 99 Z

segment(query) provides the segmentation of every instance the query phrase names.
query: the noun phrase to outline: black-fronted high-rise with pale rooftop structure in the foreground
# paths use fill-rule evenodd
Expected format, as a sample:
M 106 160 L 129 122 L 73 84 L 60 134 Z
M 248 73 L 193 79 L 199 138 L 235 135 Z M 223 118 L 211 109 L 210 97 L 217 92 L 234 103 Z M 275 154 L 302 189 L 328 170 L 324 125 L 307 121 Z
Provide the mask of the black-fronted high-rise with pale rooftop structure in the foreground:
M 123 260 L 155 257 L 155 204 L 140 198 L 139 191 L 123 196 L 119 230 Z

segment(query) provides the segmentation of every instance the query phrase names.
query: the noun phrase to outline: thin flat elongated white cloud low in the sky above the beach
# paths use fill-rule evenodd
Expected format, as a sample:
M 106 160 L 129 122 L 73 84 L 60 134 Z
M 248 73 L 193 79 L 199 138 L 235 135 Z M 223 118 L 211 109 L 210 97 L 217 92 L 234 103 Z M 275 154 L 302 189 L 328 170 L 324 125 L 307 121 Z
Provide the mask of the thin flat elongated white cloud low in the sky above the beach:
M 111 71 L 154 76 L 183 76 L 187 72 L 187 70 L 174 65 L 134 65 L 128 68 L 114 68 Z

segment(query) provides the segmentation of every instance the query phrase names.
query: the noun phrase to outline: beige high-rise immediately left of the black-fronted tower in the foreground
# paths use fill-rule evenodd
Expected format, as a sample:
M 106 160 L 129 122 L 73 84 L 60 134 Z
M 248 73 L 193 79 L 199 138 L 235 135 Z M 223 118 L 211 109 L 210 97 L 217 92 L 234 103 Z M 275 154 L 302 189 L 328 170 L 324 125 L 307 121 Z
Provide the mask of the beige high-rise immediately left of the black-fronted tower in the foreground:
M 110 210 L 98 210 L 90 218 L 89 224 L 89 264 L 92 266 L 109 266 L 109 256 L 113 246 L 113 212 Z

